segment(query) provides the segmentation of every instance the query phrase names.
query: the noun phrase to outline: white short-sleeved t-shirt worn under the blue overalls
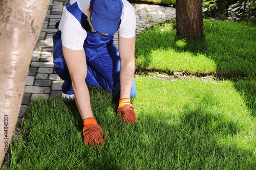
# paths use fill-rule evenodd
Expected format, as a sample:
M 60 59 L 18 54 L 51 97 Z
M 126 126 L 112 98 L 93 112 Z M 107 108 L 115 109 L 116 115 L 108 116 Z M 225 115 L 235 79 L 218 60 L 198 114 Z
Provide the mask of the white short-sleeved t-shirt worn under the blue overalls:
M 91 21 L 88 14 L 88 5 L 90 0 L 71 0 L 70 4 L 77 2 L 79 9 L 87 16 L 87 21 L 92 28 Z M 124 38 L 132 38 L 135 36 L 136 29 L 136 15 L 133 6 L 127 1 L 123 2 L 123 12 L 121 16 L 121 24 L 119 26 L 118 34 Z M 82 50 L 84 40 L 86 40 L 87 32 L 81 26 L 81 23 L 73 16 L 67 9 L 63 10 L 61 20 L 59 23 L 59 30 L 61 31 L 62 45 L 72 50 Z M 94 31 L 92 29 L 92 31 Z

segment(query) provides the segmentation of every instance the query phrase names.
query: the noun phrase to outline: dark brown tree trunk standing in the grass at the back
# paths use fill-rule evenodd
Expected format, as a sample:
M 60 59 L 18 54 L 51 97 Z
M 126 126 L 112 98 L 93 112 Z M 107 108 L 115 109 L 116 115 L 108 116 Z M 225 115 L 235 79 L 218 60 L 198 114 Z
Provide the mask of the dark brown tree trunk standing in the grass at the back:
M 204 37 L 203 0 L 176 1 L 176 30 L 184 38 Z

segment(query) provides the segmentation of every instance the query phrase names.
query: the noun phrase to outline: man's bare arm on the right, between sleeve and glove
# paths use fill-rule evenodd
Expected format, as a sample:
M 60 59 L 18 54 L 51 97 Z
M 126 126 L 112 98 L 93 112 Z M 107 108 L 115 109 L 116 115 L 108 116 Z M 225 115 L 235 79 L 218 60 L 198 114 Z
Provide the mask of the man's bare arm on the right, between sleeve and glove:
M 135 69 L 135 39 L 123 38 L 119 39 L 119 55 L 120 55 L 120 99 L 131 98 L 131 88 Z

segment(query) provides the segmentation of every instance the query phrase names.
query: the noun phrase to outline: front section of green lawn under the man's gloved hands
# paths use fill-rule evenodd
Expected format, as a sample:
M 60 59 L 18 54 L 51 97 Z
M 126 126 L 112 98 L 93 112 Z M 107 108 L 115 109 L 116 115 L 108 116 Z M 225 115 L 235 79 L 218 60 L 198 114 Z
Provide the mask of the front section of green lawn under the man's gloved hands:
M 153 77 L 135 82 L 134 125 L 116 115 L 116 98 L 108 91 L 89 86 L 106 133 L 104 145 L 94 149 L 83 144 L 74 101 L 33 101 L 8 169 L 256 168 L 256 120 L 243 94 L 252 94 L 254 84 Z

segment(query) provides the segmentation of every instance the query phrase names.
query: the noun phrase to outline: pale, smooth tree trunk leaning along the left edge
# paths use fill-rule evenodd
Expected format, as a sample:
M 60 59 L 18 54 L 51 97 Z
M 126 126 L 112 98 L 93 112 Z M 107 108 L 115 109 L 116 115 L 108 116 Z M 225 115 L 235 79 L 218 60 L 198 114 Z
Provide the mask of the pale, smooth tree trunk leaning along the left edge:
M 49 0 L 0 1 L 1 164 L 17 122 L 29 64 L 49 2 Z

